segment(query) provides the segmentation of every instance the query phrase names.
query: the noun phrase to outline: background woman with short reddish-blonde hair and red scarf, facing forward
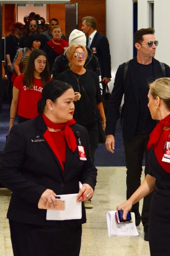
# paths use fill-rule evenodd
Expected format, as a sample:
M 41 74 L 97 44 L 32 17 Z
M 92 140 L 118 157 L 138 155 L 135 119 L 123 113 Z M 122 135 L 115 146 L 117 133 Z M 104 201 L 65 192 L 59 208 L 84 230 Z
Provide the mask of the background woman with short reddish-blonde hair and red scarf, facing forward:
M 44 46 L 44 51 L 48 57 L 50 71 L 52 71 L 56 57 L 64 53 L 68 45 L 66 40 L 61 39 L 62 28 L 60 26 L 54 26 L 51 30 L 51 33 L 53 39 L 48 41 Z

